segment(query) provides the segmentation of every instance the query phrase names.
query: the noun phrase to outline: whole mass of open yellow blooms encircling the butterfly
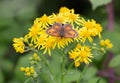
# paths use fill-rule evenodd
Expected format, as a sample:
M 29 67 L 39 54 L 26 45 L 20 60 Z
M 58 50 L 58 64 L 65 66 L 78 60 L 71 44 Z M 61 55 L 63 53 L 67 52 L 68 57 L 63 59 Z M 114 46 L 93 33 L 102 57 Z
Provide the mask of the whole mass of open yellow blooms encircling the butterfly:
M 55 23 L 61 24 L 70 24 L 72 28 L 78 33 L 77 37 L 74 38 L 65 38 L 65 37 L 55 37 L 46 33 L 46 30 L 50 28 Z M 43 54 L 51 54 L 51 51 L 54 49 L 64 49 L 71 45 L 71 43 L 77 43 L 77 46 L 68 51 L 70 58 L 75 61 L 75 66 L 80 66 L 81 63 L 89 64 L 92 54 L 92 46 L 88 46 L 86 41 L 93 43 L 93 38 L 101 36 L 102 27 L 99 23 L 96 23 L 95 20 L 85 20 L 79 14 L 75 14 L 74 9 L 68 9 L 66 7 L 61 7 L 59 13 L 51 14 L 47 16 L 44 14 L 40 18 L 36 18 L 34 24 L 29 28 L 28 34 L 23 38 L 14 38 L 13 46 L 16 52 L 23 53 L 27 50 L 36 49 L 42 51 Z M 63 33 L 60 33 L 63 34 Z M 112 47 L 110 42 L 102 41 L 101 45 L 106 45 L 108 48 Z M 34 54 L 36 58 L 36 54 Z M 31 59 L 33 60 L 33 59 Z

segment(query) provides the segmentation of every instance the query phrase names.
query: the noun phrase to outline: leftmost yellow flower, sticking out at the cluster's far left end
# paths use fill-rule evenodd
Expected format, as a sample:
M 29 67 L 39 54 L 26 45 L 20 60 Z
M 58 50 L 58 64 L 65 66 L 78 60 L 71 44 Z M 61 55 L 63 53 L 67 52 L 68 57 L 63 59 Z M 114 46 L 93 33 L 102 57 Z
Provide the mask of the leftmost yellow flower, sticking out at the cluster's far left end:
M 25 44 L 23 42 L 23 38 L 14 38 L 13 39 L 13 47 L 15 48 L 16 52 L 24 53 L 25 52 Z

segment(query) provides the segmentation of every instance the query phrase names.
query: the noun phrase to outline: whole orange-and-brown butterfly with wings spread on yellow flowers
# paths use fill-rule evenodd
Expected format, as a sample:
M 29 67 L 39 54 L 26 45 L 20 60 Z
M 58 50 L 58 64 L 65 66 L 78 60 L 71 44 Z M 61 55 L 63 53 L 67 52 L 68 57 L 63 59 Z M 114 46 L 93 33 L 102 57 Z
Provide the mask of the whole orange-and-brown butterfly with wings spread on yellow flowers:
M 55 23 L 52 27 L 46 30 L 46 33 L 54 36 L 54 37 L 61 37 L 61 38 L 74 38 L 78 36 L 78 33 L 72 29 L 72 25 L 61 23 Z

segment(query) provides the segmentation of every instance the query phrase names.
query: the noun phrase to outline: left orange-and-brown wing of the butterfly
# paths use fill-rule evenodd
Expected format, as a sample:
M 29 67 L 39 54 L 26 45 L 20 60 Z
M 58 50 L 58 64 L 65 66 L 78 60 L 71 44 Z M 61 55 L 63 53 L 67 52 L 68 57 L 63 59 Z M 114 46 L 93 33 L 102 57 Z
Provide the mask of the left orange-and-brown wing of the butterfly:
M 52 27 L 50 27 L 46 30 L 46 33 L 51 36 L 60 37 L 61 29 L 62 29 L 62 24 L 55 23 L 52 25 Z

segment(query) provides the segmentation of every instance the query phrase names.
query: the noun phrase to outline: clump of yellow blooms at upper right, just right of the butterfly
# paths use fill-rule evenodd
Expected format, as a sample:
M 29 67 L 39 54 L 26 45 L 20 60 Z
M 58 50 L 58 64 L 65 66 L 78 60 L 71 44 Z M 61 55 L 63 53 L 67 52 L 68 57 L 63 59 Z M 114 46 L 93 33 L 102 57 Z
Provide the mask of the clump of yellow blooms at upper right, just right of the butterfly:
M 82 23 L 82 22 L 81 22 Z M 80 37 L 82 37 L 82 42 L 88 39 L 91 43 L 93 42 L 93 37 L 99 36 L 101 38 L 102 27 L 100 24 L 96 23 L 93 19 L 90 21 L 85 21 L 83 19 L 83 27 L 80 29 Z

